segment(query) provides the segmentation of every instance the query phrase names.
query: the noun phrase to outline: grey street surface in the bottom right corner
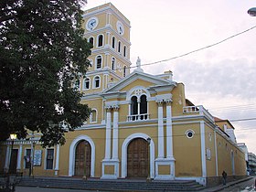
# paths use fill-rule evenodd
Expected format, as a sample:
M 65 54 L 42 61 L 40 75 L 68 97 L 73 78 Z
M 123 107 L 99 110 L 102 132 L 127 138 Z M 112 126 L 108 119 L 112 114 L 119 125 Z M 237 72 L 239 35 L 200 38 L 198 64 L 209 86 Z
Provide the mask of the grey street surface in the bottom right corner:
M 229 192 L 252 192 L 256 191 L 255 189 L 255 179 L 256 176 L 254 176 L 252 179 L 236 184 L 234 186 L 225 188 L 221 191 L 229 191 Z

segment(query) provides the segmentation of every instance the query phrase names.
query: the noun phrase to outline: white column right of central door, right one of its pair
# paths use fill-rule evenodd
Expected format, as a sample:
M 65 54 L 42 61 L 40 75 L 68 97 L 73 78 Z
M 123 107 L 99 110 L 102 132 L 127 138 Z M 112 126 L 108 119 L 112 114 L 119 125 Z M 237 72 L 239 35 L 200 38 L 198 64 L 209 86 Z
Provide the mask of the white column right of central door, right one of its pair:
M 166 157 L 173 158 L 173 124 L 171 101 L 166 101 Z

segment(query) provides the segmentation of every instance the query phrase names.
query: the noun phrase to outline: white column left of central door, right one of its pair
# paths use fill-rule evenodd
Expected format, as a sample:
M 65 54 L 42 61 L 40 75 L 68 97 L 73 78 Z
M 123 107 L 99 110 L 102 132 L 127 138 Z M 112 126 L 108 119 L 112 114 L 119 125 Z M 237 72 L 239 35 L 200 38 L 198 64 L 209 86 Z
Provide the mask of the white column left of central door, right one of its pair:
M 118 107 L 113 111 L 112 159 L 118 159 Z

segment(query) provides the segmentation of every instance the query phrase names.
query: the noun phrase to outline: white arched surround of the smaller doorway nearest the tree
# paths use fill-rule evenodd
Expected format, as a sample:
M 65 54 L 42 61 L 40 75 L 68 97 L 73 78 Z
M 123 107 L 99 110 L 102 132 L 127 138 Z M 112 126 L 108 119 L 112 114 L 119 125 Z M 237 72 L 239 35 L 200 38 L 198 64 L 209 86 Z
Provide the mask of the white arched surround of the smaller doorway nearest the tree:
M 69 146 L 69 176 L 74 176 L 76 147 L 81 140 L 86 140 L 89 142 L 89 144 L 91 144 L 91 176 L 93 177 L 95 170 L 95 144 L 93 143 L 91 137 L 87 135 L 78 136 Z

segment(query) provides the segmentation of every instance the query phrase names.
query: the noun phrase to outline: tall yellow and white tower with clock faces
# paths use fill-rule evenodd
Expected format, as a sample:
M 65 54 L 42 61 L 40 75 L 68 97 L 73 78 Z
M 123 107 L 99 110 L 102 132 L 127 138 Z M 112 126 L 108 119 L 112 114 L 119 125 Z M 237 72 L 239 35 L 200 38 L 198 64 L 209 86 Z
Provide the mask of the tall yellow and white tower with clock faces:
M 85 11 L 83 21 L 93 48 L 81 91 L 101 92 L 130 74 L 130 21 L 111 3 Z

